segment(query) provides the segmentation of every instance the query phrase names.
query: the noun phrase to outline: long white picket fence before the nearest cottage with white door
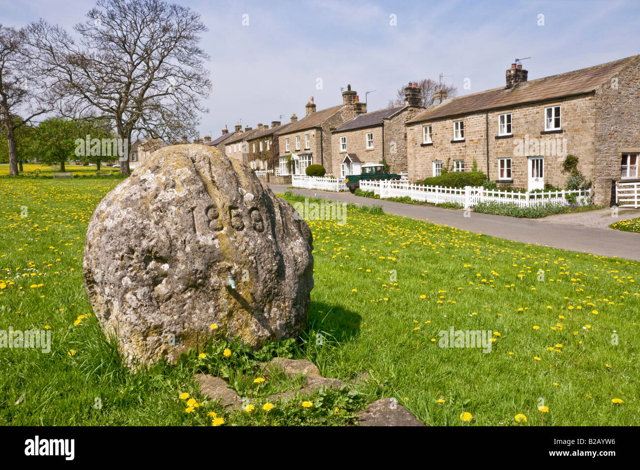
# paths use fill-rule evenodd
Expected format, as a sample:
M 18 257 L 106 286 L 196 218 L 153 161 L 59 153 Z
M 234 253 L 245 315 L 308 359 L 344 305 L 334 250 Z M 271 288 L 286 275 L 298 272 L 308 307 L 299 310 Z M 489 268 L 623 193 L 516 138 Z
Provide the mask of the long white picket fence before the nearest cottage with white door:
M 462 207 L 473 207 L 481 202 L 515 203 L 520 207 L 547 204 L 565 204 L 570 201 L 568 196 L 575 194 L 575 203 L 585 204 L 589 201 L 591 190 L 579 191 L 544 191 L 544 192 L 515 192 L 484 189 L 484 187 L 464 188 L 424 186 L 410 184 L 403 181 L 360 181 L 362 191 L 373 191 L 374 194 L 385 198 L 410 197 L 414 201 L 433 204 L 456 202 Z

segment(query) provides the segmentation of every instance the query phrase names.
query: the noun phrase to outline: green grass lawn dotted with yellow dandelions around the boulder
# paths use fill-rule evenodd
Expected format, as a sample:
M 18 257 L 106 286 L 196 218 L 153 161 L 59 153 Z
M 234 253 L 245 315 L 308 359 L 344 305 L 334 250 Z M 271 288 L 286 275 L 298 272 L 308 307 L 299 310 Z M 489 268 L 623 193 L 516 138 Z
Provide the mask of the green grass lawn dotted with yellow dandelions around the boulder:
M 198 395 L 193 376 L 204 368 L 262 396 L 250 392 L 267 386 L 253 384 L 264 375 L 255 364 L 276 353 L 344 381 L 367 371 L 367 401 L 397 398 L 429 425 L 512 425 L 516 414 L 532 426 L 543 416 L 545 426 L 638 423 L 637 262 L 364 210 L 342 225 L 309 222 L 315 287 L 298 345 L 252 353 L 220 341 L 205 359 L 131 373 L 91 315 L 82 278 L 86 226 L 118 180 L 0 177 L 0 330 L 50 327 L 52 338 L 49 354 L 0 349 L 0 424 L 210 424 L 207 412 L 236 424 L 340 424 L 362 407 L 323 392 L 308 409 L 256 402 L 229 415 Z M 492 331 L 491 352 L 440 347 L 451 327 Z M 203 405 L 186 412 L 182 393 Z

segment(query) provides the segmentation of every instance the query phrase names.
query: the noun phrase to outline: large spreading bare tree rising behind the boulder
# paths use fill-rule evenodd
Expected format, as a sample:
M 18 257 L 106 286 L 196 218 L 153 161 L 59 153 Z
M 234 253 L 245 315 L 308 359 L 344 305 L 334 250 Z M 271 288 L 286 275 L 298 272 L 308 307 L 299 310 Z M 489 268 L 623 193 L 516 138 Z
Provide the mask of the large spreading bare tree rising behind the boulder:
M 194 135 L 211 90 L 200 15 L 161 0 L 98 0 L 86 16 L 75 27 L 80 45 L 44 20 L 28 29 L 63 114 L 109 118 L 127 142 L 134 132 L 166 143 Z M 123 175 L 131 173 L 128 157 Z

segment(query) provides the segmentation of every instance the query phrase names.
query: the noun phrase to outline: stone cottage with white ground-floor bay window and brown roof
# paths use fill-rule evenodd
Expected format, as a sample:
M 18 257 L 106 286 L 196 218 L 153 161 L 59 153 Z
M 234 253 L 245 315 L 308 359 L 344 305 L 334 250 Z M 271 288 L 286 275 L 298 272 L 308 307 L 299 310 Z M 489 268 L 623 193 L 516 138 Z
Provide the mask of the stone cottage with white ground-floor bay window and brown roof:
M 298 121 L 294 114 L 289 127 L 278 134 L 280 175 L 305 175 L 307 166 L 319 164 L 328 175 L 337 176 L 340 161 L 332 155 L 332 130 L 358 114 L 366 113 L 367 105 L 360 102 L 358 93 L 349 85 L 342 92 L 342 104 L 316 111 L 311 97 L 305 109 L 304 118 Z

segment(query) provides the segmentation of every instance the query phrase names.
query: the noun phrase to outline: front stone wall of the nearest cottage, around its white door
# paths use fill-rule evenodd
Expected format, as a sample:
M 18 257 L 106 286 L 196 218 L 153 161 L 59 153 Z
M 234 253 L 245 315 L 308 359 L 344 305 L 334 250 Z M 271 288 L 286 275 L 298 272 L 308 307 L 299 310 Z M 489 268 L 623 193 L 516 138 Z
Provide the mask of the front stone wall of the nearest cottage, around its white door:
M 544 182 L 564 187 L 568 173 L 562 169 L 566 155 L 579 157 L 579 169 L 593 178 L 595 168 L 596 110 L 593 94 L 561 98 L 537 104 L 524 104 L 500 111 L 472 113 L 455 118 L 412 124 L 407 129 L 409 179 L 416 182 L 434 176 L 433 162 L 454 168 L 454 161 L 464 161 L 465 171 L 477 169 L 486 173 L 486 123 L 488 120 L 489 175 L 499 180 L 499 159 L 511 159 L 511 180 L 515 187 L 528 187 L 529 156 L 544 157 Z M 562 133 L 541 134 L 545 130 L 545 107 L 561 106 Z M 499 115 L 511 113 L 513 137 L 497 138 Z M 454 121 L 463 120 L 464 141 L 453 141 Z M 422 141 L 422 126 L 431 125 L 433 144 Z

